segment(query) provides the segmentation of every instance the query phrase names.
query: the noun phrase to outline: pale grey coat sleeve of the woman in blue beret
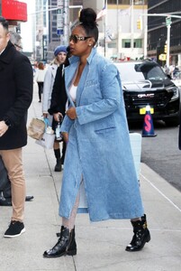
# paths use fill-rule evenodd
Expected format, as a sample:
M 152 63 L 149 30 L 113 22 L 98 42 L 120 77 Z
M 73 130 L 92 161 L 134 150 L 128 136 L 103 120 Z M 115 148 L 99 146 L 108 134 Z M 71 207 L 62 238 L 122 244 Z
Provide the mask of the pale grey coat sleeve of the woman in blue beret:
M 48 113 L 49 103 L 50 103 L 50 95 L 52 91 L 52 72 L 51 67 L 46 71 L 44 83 L 43 83 L 43 94 L 42 94 L 42 113 Z

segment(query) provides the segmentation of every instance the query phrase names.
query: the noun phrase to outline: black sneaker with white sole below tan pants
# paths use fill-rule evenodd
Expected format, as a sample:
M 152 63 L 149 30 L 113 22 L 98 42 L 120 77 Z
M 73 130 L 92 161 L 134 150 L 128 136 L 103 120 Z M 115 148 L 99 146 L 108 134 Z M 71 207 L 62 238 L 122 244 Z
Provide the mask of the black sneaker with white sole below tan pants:
M 20 221 L 11 221 L 9 228 L 5 231 L 5 238 L 14 238 L 25 232 L 24 224 Z

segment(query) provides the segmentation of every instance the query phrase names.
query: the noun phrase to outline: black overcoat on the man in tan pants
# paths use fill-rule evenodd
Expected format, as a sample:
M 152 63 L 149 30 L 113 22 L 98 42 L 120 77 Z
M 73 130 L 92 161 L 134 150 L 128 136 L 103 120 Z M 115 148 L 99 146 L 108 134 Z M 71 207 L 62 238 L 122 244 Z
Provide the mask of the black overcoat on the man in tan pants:
M 32 65 L 23 53 L 8 42 L 0 55 L 0 121 L 11 126 L 0 137 L 0 150 L 10 150 L 27 144 L 27 110 L 32 102 Z

